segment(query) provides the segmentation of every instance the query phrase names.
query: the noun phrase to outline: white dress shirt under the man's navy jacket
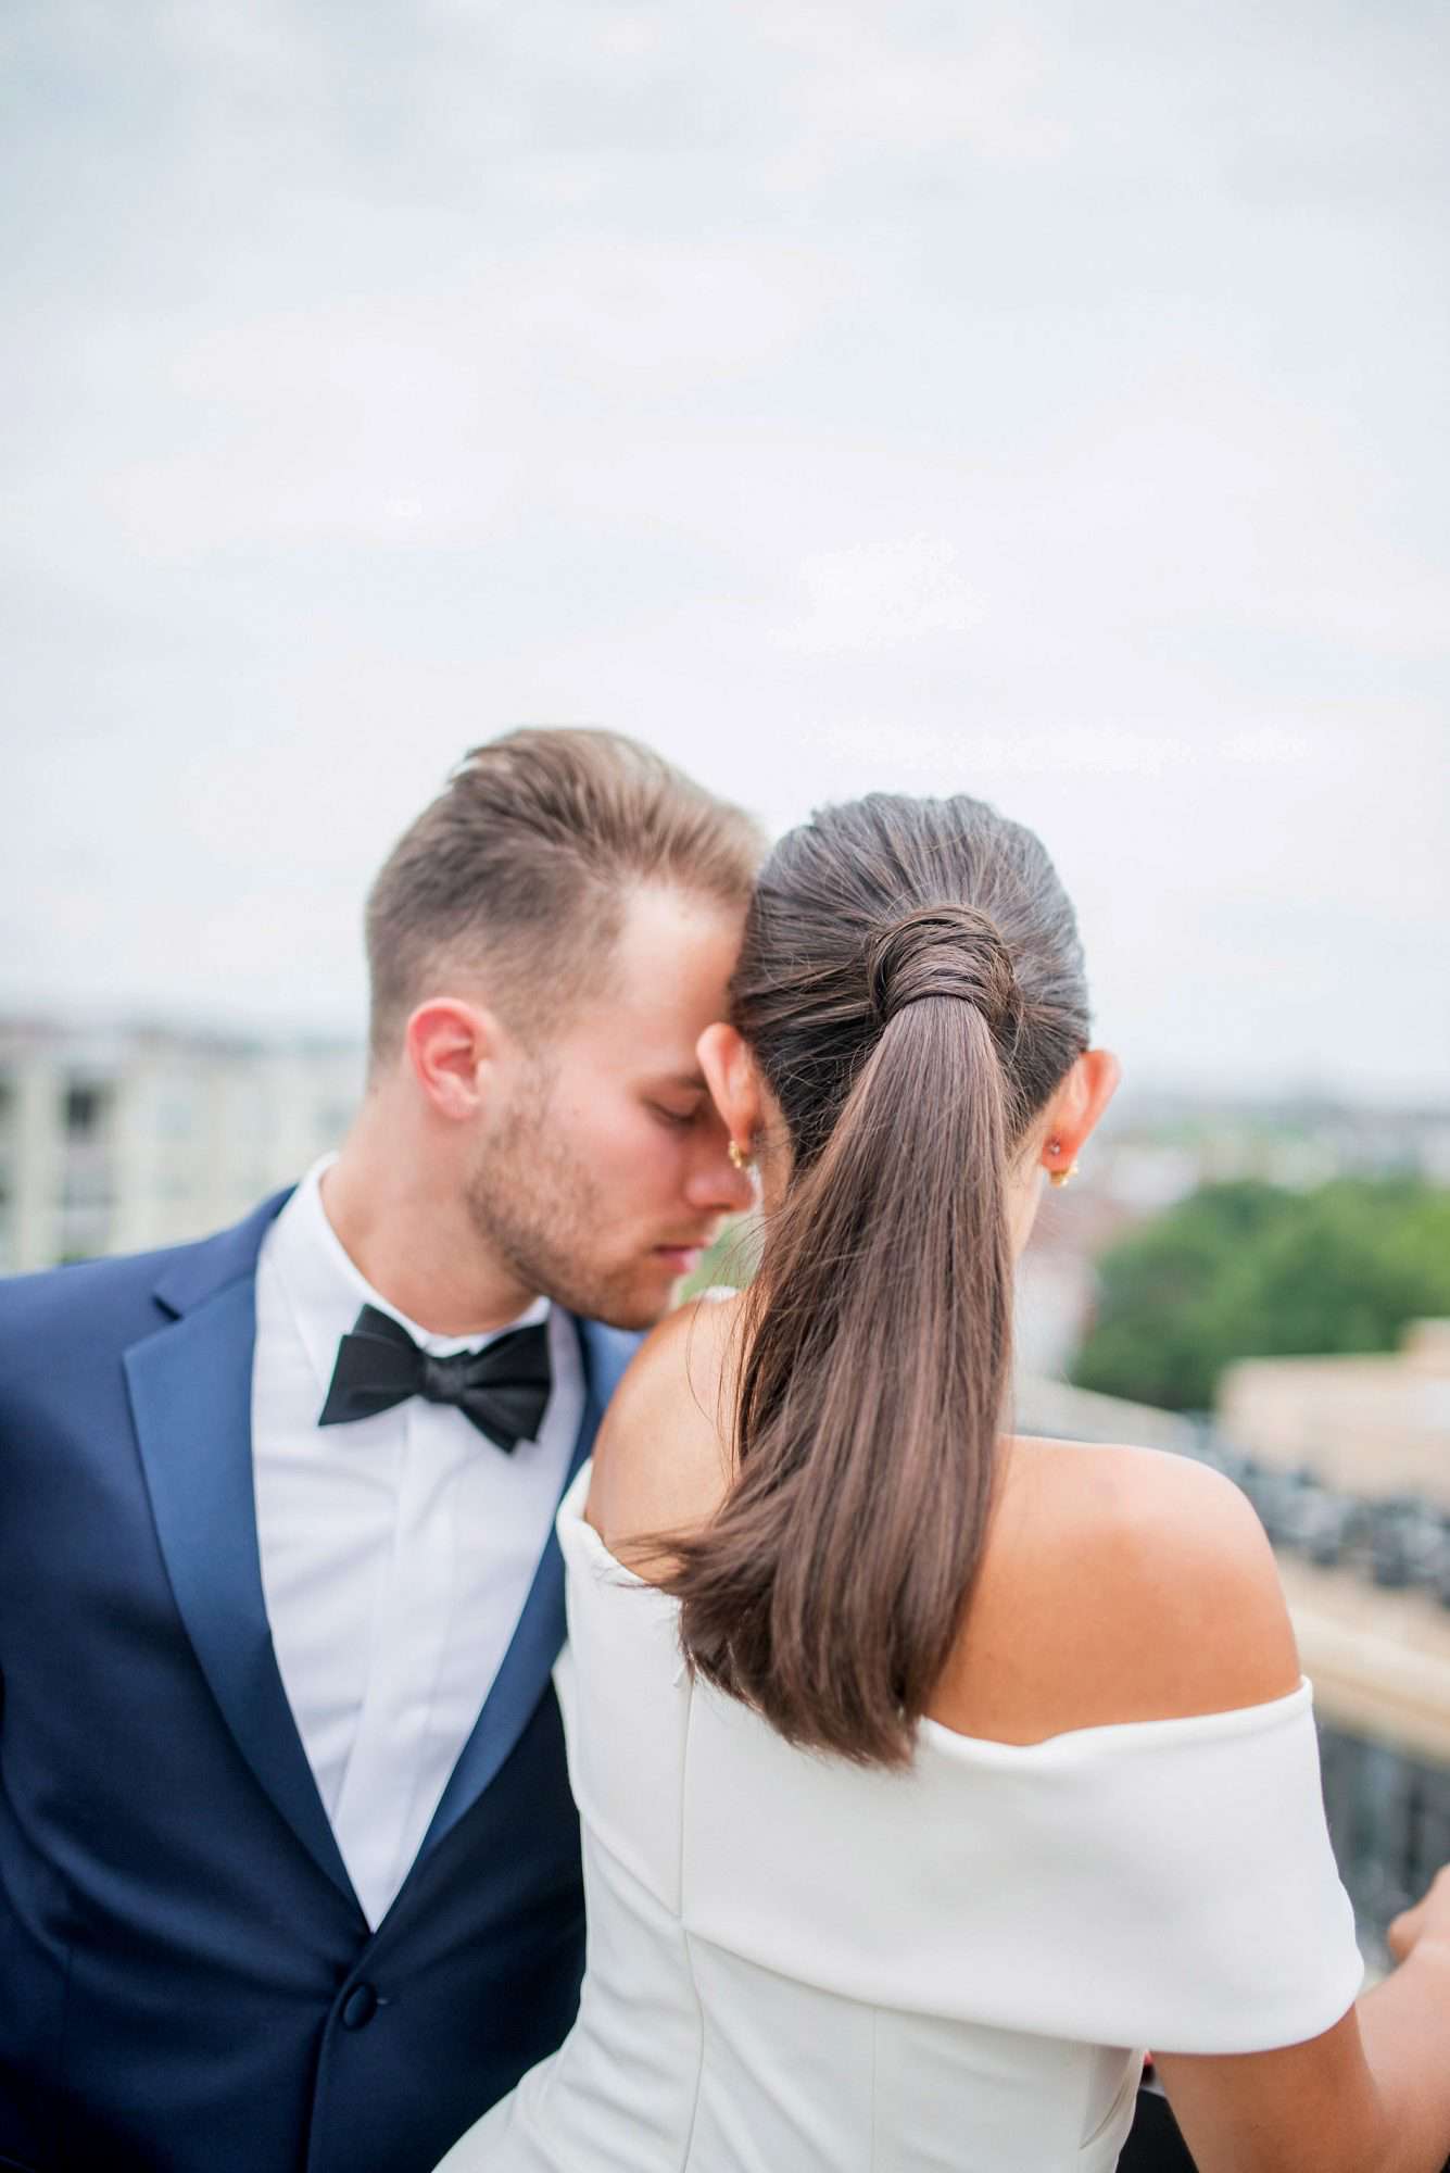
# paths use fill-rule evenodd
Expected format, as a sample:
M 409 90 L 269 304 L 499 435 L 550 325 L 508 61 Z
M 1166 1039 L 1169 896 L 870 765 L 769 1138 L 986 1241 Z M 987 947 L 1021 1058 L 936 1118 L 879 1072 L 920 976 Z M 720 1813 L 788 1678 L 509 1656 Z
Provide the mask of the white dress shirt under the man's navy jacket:
M 540 1297 L 508 1328 L 549 1321 L 554 1386 L 538 1436 L 512 1454 L 421 1397 L 319 1428 L 360 1306 L 393 1315 L 438 1358 L 493 1341 L 428 1334 L 362 1280 L 321 1204 L 330 1160 L 308 1171 L 258 1256 L 252 1471 L 282 1686 L 378 1925 L 534 1582 L 584 1417 L 584 1369 L 573 1321 Z

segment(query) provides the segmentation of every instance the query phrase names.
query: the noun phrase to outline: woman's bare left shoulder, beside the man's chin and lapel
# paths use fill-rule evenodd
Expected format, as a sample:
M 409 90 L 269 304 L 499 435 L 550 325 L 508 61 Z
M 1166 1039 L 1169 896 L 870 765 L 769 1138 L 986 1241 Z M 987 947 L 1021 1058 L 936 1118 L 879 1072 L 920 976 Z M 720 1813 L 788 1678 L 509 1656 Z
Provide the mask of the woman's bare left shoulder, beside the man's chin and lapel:
M 595 1441 L 586 1515 L 612 1552 L 716 1510 L 729 1486 L 738 1345 L 740 1293 L 697 1297 L 645 1336 Z

